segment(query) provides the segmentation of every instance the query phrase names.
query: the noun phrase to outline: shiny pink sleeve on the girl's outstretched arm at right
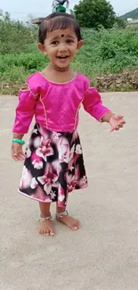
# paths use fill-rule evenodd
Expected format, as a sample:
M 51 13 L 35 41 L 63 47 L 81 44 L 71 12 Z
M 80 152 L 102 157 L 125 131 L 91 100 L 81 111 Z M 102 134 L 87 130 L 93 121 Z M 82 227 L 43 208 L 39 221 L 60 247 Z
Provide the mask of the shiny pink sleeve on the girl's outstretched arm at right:
M 110 112 L 110 109 L 102 104 L 101 95 L 95 87 L 90 87 L 86 91 L 83 105 L 85 111 L 99 121 L 104 115 Z

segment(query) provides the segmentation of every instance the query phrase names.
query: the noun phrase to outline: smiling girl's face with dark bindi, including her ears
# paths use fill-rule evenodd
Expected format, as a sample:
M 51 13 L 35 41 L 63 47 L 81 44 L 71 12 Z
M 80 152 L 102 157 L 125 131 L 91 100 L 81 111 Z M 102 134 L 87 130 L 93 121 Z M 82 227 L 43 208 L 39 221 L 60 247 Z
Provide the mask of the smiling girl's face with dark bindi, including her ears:
M 83 40 L 77 40 L 73 29 L 57 29 L 48 32 L 45 44 L 39 44 L 38 47 L 49 57 L 53 67 L 62 70 L 69 67 L 83 44 Z

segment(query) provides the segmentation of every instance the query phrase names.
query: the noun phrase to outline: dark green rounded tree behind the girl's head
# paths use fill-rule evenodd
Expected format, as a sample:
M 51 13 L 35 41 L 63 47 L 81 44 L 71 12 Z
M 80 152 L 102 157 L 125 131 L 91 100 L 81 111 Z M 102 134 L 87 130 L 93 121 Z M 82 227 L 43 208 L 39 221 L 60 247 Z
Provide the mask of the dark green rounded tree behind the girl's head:
M 97 29 L 103 26 L 110 29 L 116 21 L 116 14 L 106 0 L 81 0 L 74 6 L 80 26 Z

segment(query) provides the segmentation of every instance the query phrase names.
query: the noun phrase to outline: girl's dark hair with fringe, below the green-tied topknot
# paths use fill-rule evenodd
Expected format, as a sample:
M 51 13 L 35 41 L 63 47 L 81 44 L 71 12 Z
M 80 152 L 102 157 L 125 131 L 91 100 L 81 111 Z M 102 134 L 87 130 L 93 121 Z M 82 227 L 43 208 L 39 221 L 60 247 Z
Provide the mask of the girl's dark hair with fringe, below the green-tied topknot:
M 56 29 L 74 29 L 77 35 L 77 40 L 83 39 L 81 36 L 79 23 L 76 18 L 68 13 L 54 12 L 40 23 L 39 25 L 39 42 L 44 45 L 47 32 L 52 32 Z

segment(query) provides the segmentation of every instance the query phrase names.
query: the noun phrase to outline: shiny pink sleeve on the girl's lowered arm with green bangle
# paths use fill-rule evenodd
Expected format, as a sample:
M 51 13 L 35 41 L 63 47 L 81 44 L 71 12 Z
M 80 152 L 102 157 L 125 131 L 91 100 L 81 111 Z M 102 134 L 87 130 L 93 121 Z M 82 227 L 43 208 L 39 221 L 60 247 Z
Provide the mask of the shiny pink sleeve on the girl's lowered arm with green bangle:
M 12 128 L 13 133 L 28 133 L 29 125 L 35 113 L 36 98 L 26 89 L 20 89 L 19 104 L 16 107 L 16 116 Z

